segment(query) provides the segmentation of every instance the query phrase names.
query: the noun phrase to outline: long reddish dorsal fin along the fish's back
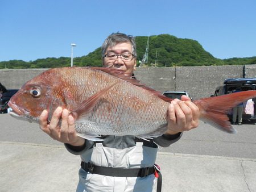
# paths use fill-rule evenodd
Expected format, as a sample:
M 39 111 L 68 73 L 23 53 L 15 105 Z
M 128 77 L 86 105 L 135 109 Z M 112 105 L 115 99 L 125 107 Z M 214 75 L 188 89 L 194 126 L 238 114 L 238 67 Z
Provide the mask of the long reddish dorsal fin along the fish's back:
M 142 84 L 140 81 L 136 80 L 133 77 L 130 76 L 126 76 L 125 72 L 123 70 L 120 69 L 112 69 L 112 68 L 100 68 L 100 67 L 89 67 L 90 69 L 94 69 L 94 70 L 101 70 L 102 72 L 108 73 L 114 77 L 120 78 L 121 80 L 130 82 L 131 84 L 138 86 L 138 87 L 142 87 L 142 89 L 145 89 L 147 91 L 149 91 L 150 93 L 156 95 L 157 97 L 159 97 L 160 99 L 163 99 L 166 102 L 171 102 L 173 99 L 168 98 L 166 96 L 164 96 L 162 93 L 160 93 L 159 91 L 156 91 L 144 84 Z

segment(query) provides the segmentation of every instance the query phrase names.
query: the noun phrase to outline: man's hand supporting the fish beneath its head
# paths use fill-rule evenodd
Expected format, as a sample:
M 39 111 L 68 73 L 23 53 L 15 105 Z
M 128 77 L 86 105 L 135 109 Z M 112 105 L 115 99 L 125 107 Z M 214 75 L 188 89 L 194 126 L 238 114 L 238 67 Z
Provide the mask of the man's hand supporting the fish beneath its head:
M 52 114 L 52 119 L 47 124 L 48 111 L 44 110 L 39 118 L 40 128 L 46 132 L 52 139 L 60 141 L 61 143 L 68 143 L 73 146 L 81 146 L 85 140 L 77 136 L 75 130 L 75 120 L 72 115 L 69 115 L 67 109 L 57 107 Z M 59 121 L 61 119 L 61 127 Z

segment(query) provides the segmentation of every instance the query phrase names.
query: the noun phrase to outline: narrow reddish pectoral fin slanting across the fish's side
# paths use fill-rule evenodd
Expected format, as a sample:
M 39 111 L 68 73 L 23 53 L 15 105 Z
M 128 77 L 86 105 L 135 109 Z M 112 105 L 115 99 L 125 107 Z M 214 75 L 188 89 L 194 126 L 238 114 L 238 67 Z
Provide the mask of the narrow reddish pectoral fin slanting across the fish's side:
M 117 84 L 117 82 L 115 84 Z M 102 95 L 104 95 L 106 93 L 106 91 L 111 89 L 115 84 L 110 85 L 110 86 L 102 89 L 101 91 L 98 91 L 98 93 L 92 95 L 91 97 L 89 97 L 88 99 L 83 101 L 79 105 L 79 107 L 77 107 L 75 110 L 71 111 L 71 114 L 76 119 L 76 121 L 79 121 L 79 120 L 83 119 L 85 116 L 87 116 L 90 113 L 90 111 L 92 111 L 92 109 L 96 105 L 96 103 L 100 100 Z

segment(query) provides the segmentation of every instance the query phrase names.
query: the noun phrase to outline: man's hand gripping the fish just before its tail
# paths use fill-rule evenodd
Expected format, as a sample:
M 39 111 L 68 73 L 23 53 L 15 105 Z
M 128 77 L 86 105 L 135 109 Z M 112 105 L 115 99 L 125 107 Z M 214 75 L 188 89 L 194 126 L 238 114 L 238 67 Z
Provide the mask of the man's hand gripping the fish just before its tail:
M 168 130 L 166 134 L 189 131 L 199 126 L 199 108 L 183 95 L 181 100 L 174 99 L 168 107 Z

